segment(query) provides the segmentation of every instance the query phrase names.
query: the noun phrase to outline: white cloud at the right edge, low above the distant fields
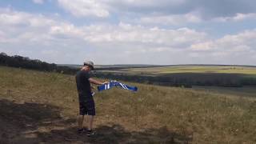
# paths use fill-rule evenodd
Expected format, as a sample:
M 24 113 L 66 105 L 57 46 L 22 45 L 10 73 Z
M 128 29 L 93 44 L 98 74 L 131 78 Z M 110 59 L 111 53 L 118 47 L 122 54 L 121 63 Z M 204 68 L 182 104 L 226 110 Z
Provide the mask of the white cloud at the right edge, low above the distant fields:
M 205 55 L 216 63 L 255 65 L 255 38 L 256 30 L 245 30 L 239 34 L 192 44 L 189 50 L 198 53 L 198 57 Z

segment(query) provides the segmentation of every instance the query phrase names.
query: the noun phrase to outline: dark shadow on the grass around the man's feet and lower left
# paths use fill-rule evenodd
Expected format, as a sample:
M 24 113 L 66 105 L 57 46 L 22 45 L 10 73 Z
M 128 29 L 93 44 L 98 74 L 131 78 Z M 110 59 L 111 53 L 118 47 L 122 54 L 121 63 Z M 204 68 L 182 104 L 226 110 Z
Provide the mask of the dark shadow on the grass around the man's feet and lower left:
M 190 143 L 192 138 L 165 126 L 140 132 L 121 125 L 97 126 L 97 135 L 76 133 L 76 120 L 64 119 L 60 108 L 0 99 L 0 143 Z

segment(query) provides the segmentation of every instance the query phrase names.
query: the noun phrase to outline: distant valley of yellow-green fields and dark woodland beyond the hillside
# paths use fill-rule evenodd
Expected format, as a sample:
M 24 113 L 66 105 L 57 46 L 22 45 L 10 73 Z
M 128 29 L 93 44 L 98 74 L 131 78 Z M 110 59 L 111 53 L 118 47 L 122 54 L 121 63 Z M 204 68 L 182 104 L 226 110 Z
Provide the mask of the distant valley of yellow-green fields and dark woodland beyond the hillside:
M 104 69 L 96 74 L 160 86 L 256 86 L 255 66 L 149 66 Z

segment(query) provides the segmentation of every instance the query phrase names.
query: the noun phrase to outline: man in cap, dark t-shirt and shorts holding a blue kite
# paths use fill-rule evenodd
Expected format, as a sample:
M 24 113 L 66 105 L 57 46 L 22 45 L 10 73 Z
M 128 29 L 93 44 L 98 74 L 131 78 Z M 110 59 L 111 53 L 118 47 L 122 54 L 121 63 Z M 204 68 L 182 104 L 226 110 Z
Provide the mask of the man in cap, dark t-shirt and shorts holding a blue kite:
M 90 70 L 94 70 L 94 63 L 90 61 L 84 62 L 82 69 L 79 70 L 75 76 L 79 98 L 78 134 L 82 134 L 86 131 L 82 124 L 84 116 L 88 115 L 87 136 L 95 135 L 93 131 L 95 105 L 90 83 L 94 83 L 96 85 L 102 85 L 107 83 L 99 82 L 94 78 L 90 78 Z

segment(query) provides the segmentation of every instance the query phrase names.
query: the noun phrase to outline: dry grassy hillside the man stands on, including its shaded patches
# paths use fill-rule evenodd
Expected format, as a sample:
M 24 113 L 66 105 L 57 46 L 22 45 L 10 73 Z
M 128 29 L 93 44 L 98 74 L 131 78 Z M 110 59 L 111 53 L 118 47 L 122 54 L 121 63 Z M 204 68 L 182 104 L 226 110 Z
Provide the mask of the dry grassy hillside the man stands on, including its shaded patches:
M 78 136 L 74 76 L 0 66 L 0 143 L 255 143 L 256 97 L 164 86 L 94 96 L 98 136 Z

